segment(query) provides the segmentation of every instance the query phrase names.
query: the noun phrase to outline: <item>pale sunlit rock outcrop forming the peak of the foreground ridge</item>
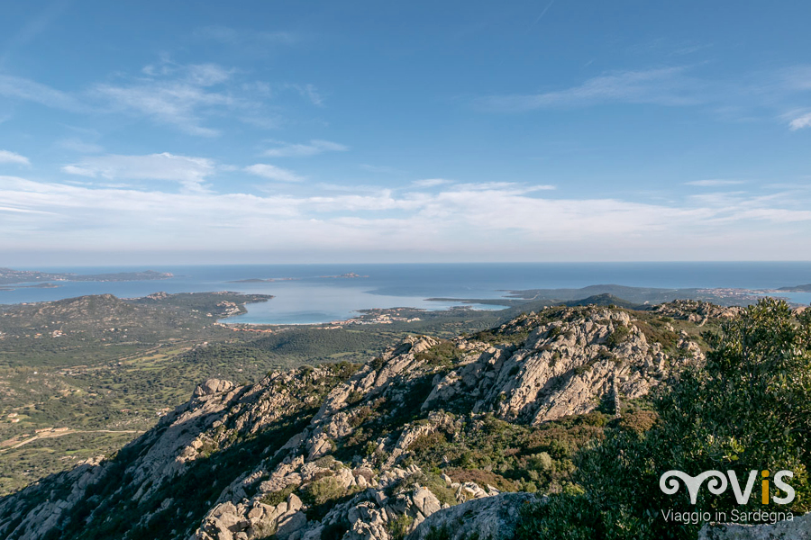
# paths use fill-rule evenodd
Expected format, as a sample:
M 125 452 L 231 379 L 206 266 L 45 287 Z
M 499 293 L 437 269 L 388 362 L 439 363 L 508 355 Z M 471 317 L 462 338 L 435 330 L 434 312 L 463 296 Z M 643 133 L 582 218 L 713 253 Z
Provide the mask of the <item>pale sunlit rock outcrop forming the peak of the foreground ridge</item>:
M 475 400 L 470 407 L 476 412 L 493 410 L 502 419 L 539 424 L 594 410 L 595 398 L 638 398 L 671 368 L 661 345 L 648 343 L 624 311 L 571 308 L 552 322 L 530 315 L 500 330 L 528 335 L 519 347 L 480 352 L 481 344 L 460 341 L 460 348 L 478 354 L 466 356 L 436 384 L 424 409 L 466 396 Z M 691 347 L 689 356 L 701 355 L 691 341 L 683 343 Z

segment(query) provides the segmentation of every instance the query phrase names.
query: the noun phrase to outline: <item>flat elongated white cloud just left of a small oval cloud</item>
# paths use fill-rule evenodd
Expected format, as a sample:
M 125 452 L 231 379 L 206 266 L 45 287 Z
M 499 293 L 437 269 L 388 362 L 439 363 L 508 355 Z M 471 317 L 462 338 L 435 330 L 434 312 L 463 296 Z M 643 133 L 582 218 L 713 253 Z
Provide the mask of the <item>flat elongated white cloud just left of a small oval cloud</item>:
M 177 182 L 191 192 L 205 192 L 206 178 L 214 175 L 214 161 L 205 157 L 176 156 L 164 152 L 147 156 L 83 157 L 62 167 L 68 175 L 107 180 L 164 180 Z

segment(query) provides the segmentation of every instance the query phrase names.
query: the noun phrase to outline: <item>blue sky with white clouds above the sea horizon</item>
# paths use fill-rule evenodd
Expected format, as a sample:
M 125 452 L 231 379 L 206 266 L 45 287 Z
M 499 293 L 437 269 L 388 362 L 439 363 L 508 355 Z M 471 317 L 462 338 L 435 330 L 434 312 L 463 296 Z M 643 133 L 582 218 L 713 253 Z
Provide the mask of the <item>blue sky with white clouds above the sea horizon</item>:
M 0 266 L 811 259 L 811 3 L 7 2 Z

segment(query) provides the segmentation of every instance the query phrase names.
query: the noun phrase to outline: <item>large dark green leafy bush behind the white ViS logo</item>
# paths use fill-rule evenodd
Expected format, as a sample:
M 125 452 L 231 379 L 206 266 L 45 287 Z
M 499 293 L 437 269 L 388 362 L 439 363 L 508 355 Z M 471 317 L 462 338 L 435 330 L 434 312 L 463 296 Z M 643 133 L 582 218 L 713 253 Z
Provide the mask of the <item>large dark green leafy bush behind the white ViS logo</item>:
M 517 540 L 692 539 L 700 524 L 666 522 L 661 511 L 763 509 L 757 486 L 745 506 L 731 489 L 699 491 L 696 505 L 683 485 L 668 496 L 659 481 L 670 470 L 734 470 L 739 478 L 789 470 L 796 499 L 770 511 L 811 509 L 811 313 L 795 319 L 785 302 L 766 299 L 706 339 L 713 347 L 706 365 L 661 391 L 653 427 L 637 429 L 651 421 L 639 418 L 579 454 L 578 485 L 526 511 Z

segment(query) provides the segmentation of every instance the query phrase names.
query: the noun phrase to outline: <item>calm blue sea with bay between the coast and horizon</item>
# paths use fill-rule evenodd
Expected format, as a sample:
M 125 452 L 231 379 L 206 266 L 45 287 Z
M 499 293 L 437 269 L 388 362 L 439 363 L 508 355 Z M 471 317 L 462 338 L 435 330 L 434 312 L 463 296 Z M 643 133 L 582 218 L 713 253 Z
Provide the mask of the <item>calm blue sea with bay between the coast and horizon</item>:
M 2 265 L 0 265 L 2 266 Z M 410 307 L 444 310 L 460 302 L 429 298 L 497 299 L 509 291 L 579 288 L 596 284 L 633 287 L 735 288 L 770 290 L 811 284 L 811 262 L 679 263 L 455 263 L 219 266 L 70 266 L 19 268 L 43 272 L 107 274 L 155 270 L 174 275 L 164 280 L 131 282 L 58 282 L 57 288 L 8 285 L 0 303 L 45 302 L 86 294 L 111 293 L 134 298 L 150 293 L 234 291 L 272 294 L 251 303 L 229 322 L 315 324 L 345 320 L 372 308 Z M 358 277 L 341 277 L 342 275 Z M 269 280 L 244 282 L 241 280 Z M 808 305 L 811 293 L 780 293 Z M 464 304 L 472 309 L 500 306 Z

